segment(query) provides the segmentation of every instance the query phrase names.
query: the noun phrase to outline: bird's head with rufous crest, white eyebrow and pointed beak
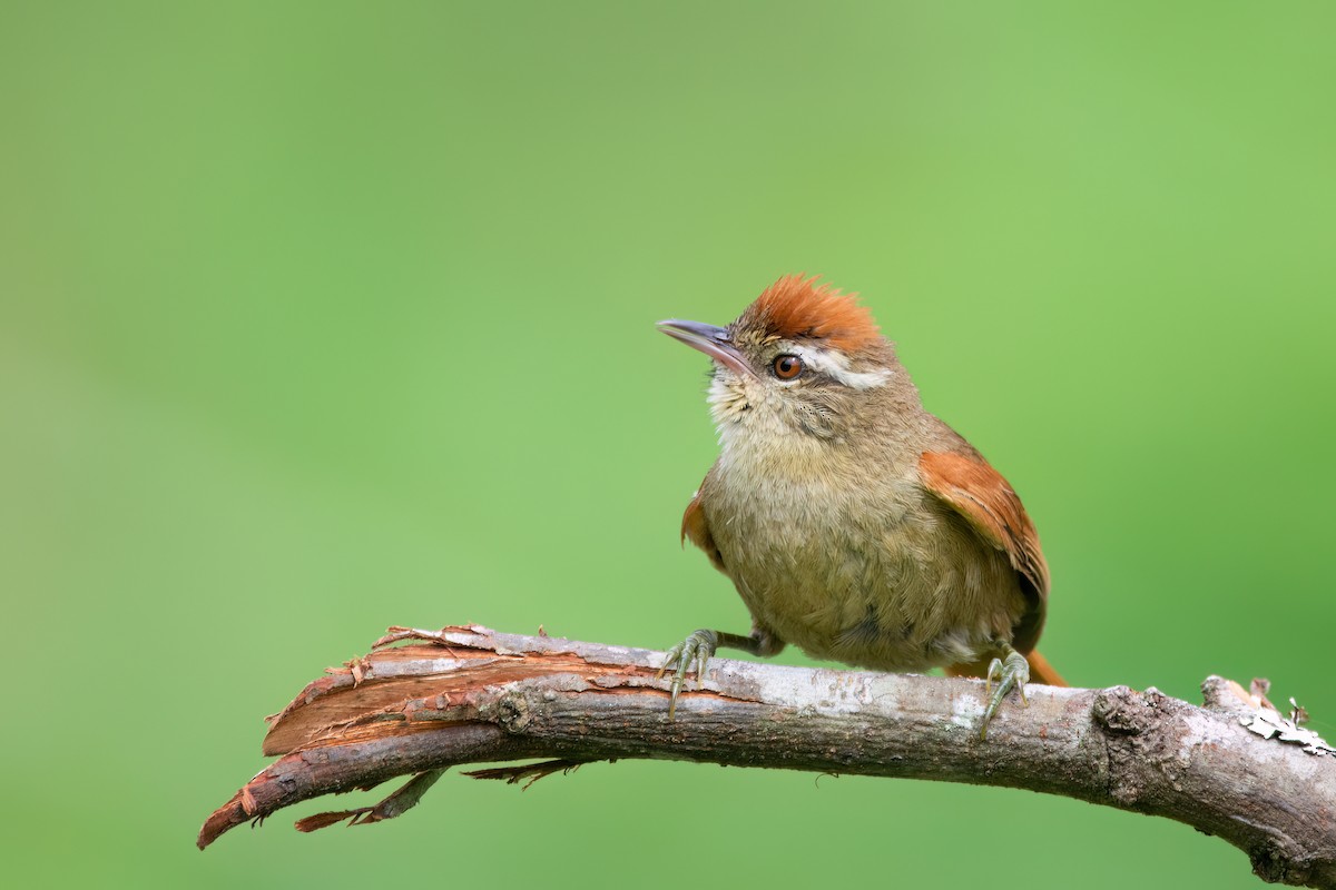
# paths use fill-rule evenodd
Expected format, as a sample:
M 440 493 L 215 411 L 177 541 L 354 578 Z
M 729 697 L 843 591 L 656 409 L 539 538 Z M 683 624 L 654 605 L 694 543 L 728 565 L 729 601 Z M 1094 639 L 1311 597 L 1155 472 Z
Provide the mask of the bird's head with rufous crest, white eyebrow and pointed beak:
M 673 319 L 659 330 L 713 359 L 709 406 L 725 444 L 748 432 L 842 439 L 903 376 L 867 307 L 802 275 L 775 282 L 725 327 Z

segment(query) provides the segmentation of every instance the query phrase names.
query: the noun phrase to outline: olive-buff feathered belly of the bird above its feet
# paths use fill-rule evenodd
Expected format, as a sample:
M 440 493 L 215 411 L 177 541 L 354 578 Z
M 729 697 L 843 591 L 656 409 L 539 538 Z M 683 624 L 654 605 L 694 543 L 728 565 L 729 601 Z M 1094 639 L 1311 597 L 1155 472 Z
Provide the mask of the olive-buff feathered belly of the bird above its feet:
M 1010 638 L 1025 608 L 1015 571 L 955 514 L 923 500 L 854 514 L 876 515 L 872 524 L 848 515 L 788 512 L 776 526 L 735 511 L 717 527 L 758 622 L 814 658 L 876 670 L 971 662 Z

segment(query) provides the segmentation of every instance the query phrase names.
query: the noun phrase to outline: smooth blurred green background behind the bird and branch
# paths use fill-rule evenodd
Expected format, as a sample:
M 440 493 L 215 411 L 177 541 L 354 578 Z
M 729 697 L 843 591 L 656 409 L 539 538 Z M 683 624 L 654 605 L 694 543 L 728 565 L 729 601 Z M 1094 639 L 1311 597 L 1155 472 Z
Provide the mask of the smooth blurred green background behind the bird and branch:
M 1333 25 L 4 3 L 7 879 L 1250 886 L 1075 801 L 675 763 L 194 838 L 261 717 L 386 624 L 745 630 L 677 547 L 707 363 L 652 323 L 794 271 L 862 292 L 1023 494 L 1074 683 L 1268 675 L 1336 735 Z

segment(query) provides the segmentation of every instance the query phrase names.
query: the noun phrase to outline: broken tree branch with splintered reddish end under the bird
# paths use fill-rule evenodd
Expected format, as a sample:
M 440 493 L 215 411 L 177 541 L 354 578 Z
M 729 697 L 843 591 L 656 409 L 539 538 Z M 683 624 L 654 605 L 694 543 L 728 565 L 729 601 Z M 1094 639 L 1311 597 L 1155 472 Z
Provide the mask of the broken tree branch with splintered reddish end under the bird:
M 1267 881 L 1336 887 L 1336 757 L 1237 683 L 1205 707 L 1156 690 L 1027 687 L 978 738 L 978 681 L 712 659 L 668 721 L 661 652 L 498 634 L 391 628 L 270 718 L 279 759 L 216 810 L 200 849 L 299 801 L 415 778 L 314 830 L 399 815 L 456 765 L 553 758 L 476 773 L 536 781 L 621 758 L 999 785 L 1162 815 L 1244 850 Z M 1252 731 L 1249 731 L 1252 729 Z M 1297 742 L 1297 743 L 1296 743 Z

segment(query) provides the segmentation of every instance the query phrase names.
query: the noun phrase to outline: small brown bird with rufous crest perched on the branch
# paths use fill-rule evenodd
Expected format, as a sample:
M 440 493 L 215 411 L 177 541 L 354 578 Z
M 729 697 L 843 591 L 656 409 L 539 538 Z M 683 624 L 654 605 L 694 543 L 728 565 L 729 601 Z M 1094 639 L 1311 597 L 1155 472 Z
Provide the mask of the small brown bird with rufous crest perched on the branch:
M 669 717 L 687 671 L 704 678 L 719 646 L 986 677 L 981 735 L 1031 677 L 1066 686 L 1034 648 L 1049 567 L 1021 499 L 923 408 L 866 307 L 799 275 L 727 327 L 659 330 L 715 362 L 720 455 L 681 534 L 754 619 L 749 636 L 697 630 L 668 652 Z

